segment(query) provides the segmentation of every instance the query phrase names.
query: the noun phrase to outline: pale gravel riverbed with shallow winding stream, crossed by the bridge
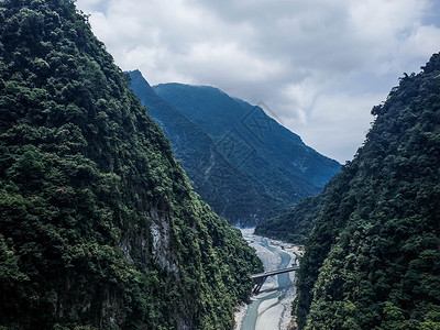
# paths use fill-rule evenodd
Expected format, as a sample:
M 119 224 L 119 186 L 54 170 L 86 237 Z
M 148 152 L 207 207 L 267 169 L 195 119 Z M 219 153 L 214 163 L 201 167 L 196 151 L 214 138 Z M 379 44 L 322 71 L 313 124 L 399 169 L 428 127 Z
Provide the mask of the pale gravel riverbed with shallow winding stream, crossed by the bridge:
M 297 246 L 254 235 L 253 229 L 241 231 L 263 261 L 264 271 L 282 270 L 296 264 L 296 257 L 300 254 Z M 296 292 L 294 282 L 295 272 L 268 277 L 260 294 L 252 297 L 252 302 L 242 306 L 235 314 L 235 330 L 288 329 Z

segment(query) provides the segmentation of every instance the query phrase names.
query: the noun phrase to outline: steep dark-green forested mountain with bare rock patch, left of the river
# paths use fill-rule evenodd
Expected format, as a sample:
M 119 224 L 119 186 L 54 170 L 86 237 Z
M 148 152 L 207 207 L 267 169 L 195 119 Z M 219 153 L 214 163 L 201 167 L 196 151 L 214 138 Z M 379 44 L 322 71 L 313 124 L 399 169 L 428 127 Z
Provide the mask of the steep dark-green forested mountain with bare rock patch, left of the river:
M 261 262 L 74 1 L 0 8 L 0 328 L 231 329 Z

